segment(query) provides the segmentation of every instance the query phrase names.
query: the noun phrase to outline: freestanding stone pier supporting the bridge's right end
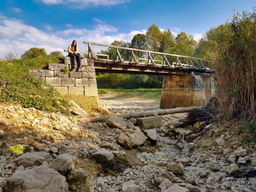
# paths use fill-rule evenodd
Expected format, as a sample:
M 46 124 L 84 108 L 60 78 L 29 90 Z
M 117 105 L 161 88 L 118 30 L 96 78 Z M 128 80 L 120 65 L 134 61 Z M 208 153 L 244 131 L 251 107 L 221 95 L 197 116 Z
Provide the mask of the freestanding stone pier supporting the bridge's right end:
M 201 106 L 214 92 L 210 75 L 172 74 L 164 76 L 160 108 Z

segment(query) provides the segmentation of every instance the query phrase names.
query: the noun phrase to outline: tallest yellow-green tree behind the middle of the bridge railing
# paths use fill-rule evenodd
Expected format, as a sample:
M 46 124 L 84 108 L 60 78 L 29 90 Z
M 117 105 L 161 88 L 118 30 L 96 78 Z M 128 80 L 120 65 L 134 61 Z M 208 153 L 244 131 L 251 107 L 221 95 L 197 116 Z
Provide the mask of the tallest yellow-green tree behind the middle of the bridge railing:
M 153 23 L 148 28 L 146 37 L 147 37 L 147 44 L 150 50 L 159 51 L 162 36 L 163 34 L 156 24 Z

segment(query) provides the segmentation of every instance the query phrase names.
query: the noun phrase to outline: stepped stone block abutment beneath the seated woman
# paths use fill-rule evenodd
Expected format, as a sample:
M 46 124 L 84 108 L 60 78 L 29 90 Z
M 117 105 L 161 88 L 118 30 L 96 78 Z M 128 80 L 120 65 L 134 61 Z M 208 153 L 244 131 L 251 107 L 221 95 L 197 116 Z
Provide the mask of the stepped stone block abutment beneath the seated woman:
M 64 96 L 96 97 L 98 99 L 93 60 L 81 59 L 81 67 L 74 68 L 72 60 L 66 56 L 64 64 L 49 63 L 48 70 L 30 69 L 29 74 L 52 85 Z M 67 72 L 64 72 L 65 69 L 68 69 Z

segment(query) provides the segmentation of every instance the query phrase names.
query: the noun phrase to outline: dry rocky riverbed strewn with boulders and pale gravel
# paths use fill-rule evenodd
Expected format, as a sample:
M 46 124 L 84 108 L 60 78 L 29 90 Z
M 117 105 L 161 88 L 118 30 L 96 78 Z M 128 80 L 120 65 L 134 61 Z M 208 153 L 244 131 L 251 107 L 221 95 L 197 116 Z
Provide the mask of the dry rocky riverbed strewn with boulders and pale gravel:
M 102 106 L 113 113 L 159 107 L 132 103 Z M 254 172 L 237 176 L 256 166 L 256 146 L 239 143 L 237 122 L 179 127 L 184 113 L 152 117 L 154 124 L 115 116 L 84 123 L 82 110 L 72 110 L 66 117 L 0 106 L 0 191 L 256 190 Z M 24 154 L 8 149 L 16 144 Z

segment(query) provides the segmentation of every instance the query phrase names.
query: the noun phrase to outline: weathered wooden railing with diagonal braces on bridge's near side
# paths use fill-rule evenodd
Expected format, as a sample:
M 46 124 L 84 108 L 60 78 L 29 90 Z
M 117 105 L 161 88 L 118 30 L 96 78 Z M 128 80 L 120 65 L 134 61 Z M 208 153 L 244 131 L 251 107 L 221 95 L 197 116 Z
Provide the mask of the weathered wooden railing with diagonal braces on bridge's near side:
M 207 62 L 213 63 L 213 61 L 210 61 L 210 60 L 206 60 L 206 59 L 202 59 L 202 58 L 196 58 L 196 57 L 190 57 L 190 56 L 184 56 L 184 55 L 162 53 L 162 52 L 156 52 L 156 51 L 150 51 L 150 50 L 142 50 L 142 49 L 136 49 L 136 48 L 127 48 L 127 47 L 113 46 L 113 45 L 107 45 L 107 44 L 101 44 L 101 43 L 93 43 L 93 42 L 87 42 L 87 41 L 84 41 L 83 43 L 84 44 L 88 44 L 88 53 L 87 53 L 88 54 L 88 58 L 94 58 L 94 59 L 98 58 L 97 55 L 101 55 L 101 56 L 106 56 L 106 55 L 105 54 L 94 53 L 94 51 L 91 48 L 91 45 L 116 48 L 116 59 L 115 59 L 115 61 L 119 61 L 120 60 L 121 62 L 125 62 L 125 63 L 146 64 L 146 63 L 143 63 L 143 62 L 139 62 L 139 60 L 148 60 L 147 65 L 159 65 L 159 64 L 155 63 L 155 61 L 156 61 L 156 62 L 161 62 L 161 65 L 162 66 L 166 66 L 166 67 L 196 68 L 194 66 L 194 63 L 192 62 L 192 59 L 196 59 L 196 60 L 199 61 L 199 69 L 205 69 L 205 70 L 207 70 L 209 68 L 206 68 L 204 66 L 204 64 L 202 63 L 202 61 L 207 61 Z M 121 57 L 119 49 L 131 50 L 131 60 L 132 61 L 124 61 L 124 58 Z M 136 57 L 136 55 L 134 54 L 134 51 L 146 52 L 146 53 L 148 53 L 148 58 Z M 153 59 L 151 54 L 163 55 L 163 60 Z M 176 57 L 176 62 L 173 62 L 172 65 L 171 65 L 170 62 L 168 61 L 168 59 L 166 58 L 166 56 L 175 56 Z M 189 59 L 189 64 L 181 63 L 179 57 L 180 58 L 188 58 Z

